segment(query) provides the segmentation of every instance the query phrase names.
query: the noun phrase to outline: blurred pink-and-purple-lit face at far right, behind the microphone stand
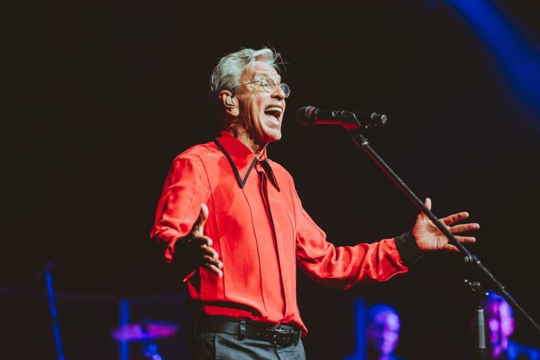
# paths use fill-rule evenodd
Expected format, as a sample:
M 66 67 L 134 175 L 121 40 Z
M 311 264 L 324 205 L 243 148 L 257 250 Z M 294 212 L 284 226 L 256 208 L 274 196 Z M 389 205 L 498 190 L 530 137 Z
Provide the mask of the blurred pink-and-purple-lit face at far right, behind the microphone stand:
M 487 345 L 490 349 L 504 350 L 514 330 L 514 319 L 507 302 L 491 302 L 484 307 Z

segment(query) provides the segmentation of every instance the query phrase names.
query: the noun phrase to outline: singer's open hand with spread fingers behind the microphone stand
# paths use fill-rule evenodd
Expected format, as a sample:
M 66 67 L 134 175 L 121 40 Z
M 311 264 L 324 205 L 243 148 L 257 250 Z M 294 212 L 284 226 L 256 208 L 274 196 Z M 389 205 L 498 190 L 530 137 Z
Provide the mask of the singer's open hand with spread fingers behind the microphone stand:
M 431 200 L 426 198 L 424 202 L 425 207 L 428 210 L 431 210 Z M 467 219 L 469 217 L 468 212 L 458 212 L 457 214 L 451 214 L 447 217 L 440 219 L 442 224 L 446 226 L 447 229 L 452 234 L 463 233 L 465 231 L 477 230 L 480 229 L 480 225 L 477 223 L 467 223 L 467 224 L 458 224 L 453 225 L 457 221 Z M 418 217 L 416 217 L 416 223 L 413 227 L 413 236 L 416 239 L 416 244 L 421 251 L 435 251 L 435 250 L 446 250 L 459 252 L 459 249 L 456 246 L 449 243 L 449 239 L 446 238 L 444 233 L 442 233 L 435 224 L 428 218 L 428 215 L 420 212 Z M 474 243 L 476 239 L 473 236 L 454 236 L 456 240 L 460 243 Z

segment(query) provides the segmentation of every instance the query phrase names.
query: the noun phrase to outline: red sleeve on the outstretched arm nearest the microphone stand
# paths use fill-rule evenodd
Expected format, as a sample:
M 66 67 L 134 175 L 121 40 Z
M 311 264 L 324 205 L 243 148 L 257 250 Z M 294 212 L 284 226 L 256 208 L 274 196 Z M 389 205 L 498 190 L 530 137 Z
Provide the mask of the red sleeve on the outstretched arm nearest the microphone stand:
M 409 269 L 393 238 L 377 243 L 335 247 L 309 217 L 293 188 L 297 227 L 296 259 L 300 269 L 323 285 L 348 289 L 361 282 L 386 281 Z

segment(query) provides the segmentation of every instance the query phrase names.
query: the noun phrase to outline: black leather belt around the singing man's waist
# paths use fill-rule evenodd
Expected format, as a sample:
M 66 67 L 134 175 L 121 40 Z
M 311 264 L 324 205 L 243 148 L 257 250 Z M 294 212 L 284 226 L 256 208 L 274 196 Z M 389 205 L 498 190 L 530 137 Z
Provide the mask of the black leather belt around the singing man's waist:
M 252 338 L 275 345 L 293 345 L 300 340 L 300 328 L 290 325 L 272 326 L 268 323 L 235 319 L 228 316 L 200 316 L 193 321 L 195 334 L 226 333 L 238 335 L 239 340 Z

